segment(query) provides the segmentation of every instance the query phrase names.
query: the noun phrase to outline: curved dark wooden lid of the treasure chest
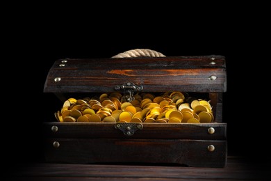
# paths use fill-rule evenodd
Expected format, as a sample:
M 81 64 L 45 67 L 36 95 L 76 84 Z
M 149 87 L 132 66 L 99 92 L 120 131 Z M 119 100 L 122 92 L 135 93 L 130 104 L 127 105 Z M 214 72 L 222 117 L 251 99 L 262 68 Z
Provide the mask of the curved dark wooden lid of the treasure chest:
M 47 74 L 44 93 L 226 92 L 224 56 L 66 58 Z

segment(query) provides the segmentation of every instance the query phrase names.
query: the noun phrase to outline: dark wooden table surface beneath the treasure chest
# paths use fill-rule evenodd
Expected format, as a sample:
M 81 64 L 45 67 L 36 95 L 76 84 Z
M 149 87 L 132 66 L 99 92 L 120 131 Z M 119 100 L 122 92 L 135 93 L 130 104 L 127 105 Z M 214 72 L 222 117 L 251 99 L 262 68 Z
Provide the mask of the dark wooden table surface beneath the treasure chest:
M 16 164 L 2 174 L 1 180 L 270 180 L 269 161 L 228 157 L 224 168 L 139 164 Z

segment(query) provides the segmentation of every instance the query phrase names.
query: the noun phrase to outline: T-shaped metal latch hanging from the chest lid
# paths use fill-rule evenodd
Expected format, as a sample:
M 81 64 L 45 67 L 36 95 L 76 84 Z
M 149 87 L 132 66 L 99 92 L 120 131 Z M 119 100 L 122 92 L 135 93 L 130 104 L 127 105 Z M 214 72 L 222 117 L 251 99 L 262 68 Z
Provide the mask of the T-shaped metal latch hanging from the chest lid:
M 128 82 L 122 86 L 115 86 L 115 91 L 123 91 L 124 96 L 123 99 L 125 99 L 125 102 L 131 102 L 135 100 L 135 97 L 133 97 L 133 92 L 136 91 L 142 91 L 143 86 L 137 86 L 136 84 L 133 84 L 132 82 Z

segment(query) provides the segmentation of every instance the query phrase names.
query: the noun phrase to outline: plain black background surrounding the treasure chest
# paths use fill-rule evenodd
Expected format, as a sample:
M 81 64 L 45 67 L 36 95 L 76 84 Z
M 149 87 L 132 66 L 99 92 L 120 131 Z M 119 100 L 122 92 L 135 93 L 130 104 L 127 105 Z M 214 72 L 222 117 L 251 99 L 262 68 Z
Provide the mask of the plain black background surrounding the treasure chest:
M 110 58 L 137 48 L 165 56 L 225 56 L 223 120 L 228 126 L 228 154 L 253 161 L 270 157 L 270 57 L 264 11 L 256 14 L 258 7 L 252 6 L 195 9 L 172 5 L 93 12 L 96 6 L 88 7 L 80 13 L 58 8 L 57 15 L 35 8 L 7 22 L 3 34 L 7 56 L 1 72 L 3 159 L 11 164 L 44 161 L 41 125 L 54 120 L 61 106 L 57 97 L 43 93 L 54 61 Z

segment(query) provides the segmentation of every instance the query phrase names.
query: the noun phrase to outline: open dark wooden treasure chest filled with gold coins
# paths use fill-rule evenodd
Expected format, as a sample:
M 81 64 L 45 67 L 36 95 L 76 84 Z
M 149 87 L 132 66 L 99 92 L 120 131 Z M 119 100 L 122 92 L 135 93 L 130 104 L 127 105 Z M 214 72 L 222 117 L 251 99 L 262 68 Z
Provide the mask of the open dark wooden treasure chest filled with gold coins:
M 57 60 L 47 75 L 44 93 L 56 94 L 63 107 L 56 110 L 56 120 L 43 124 L 46 162 L 224 167 L 227 123 L 222 123 L 222 97 L 226 89 L 224 56 Z M 71 113 L 74 104 L 80 104 L 76 111 L 81 115 Z M 63 113 L 64 107 L 69 113 Z M 174 114 L 167 113 L 173 107 Z M 96 116 L 94 120 L 88 116 L 77 121 L 87 108 L 95 111 L 88 113 Z M 115 110 L 120 110 L 119 116 L 113 119 Z M 127 112 L 132 112 L 130 117 Z

